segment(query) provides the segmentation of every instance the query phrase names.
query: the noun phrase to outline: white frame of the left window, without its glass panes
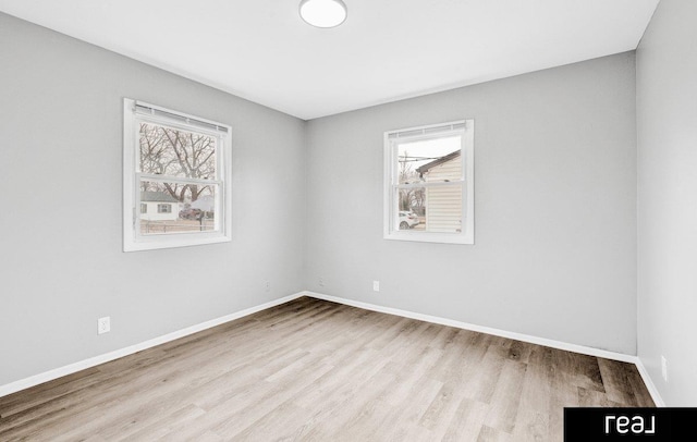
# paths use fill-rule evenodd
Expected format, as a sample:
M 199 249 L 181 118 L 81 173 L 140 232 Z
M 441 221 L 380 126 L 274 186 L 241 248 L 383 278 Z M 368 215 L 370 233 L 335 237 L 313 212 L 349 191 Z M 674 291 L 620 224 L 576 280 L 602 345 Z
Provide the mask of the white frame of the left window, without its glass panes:
M 168 179 L 139 171 L 139 125 L 142 122 L 203 133 L 217 138 L 213 180 Z M 199 116 L 124 98 L 123 100 L 123 250 L 137 251 L 186 247 L 232 241 L 232 127 Z M 140 180 L 217 184 L 213 231 L 159 235 L 140 234 Z M 136 210 L 137 208 L 137 210 Z

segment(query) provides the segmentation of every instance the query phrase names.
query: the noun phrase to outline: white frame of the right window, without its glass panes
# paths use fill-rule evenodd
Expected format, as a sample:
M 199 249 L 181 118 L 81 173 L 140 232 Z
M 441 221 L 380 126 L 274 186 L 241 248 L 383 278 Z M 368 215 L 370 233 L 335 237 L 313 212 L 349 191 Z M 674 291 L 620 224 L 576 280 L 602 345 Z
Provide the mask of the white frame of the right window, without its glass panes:
M 475 243 L 475 192 L 474 192 L 474 120 L 460 120 L 417 127 L 407 127 L 384 133 L 384 199 L 383 237 L 386 240 L 414 241 L 444 244 Z M 399 145 L 405 142 L 437 139 L 461 134 L 463 161 L 462 180 L 448 183 L 400 184 L 398 170 Z M 431 187 L 438 185 L 461 185 L 462 192 L 462 231 L 457 233 L 425 232 L 400 230 L 399 228 L 399 188 Z

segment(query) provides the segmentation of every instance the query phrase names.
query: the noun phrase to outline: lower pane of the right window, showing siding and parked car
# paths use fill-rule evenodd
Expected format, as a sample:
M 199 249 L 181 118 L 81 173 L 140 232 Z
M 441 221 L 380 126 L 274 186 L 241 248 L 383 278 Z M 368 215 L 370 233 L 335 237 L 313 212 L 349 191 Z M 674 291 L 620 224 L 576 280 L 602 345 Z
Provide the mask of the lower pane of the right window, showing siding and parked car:
M 461 233 L 461 184 L 398 188 L 399 230 Z

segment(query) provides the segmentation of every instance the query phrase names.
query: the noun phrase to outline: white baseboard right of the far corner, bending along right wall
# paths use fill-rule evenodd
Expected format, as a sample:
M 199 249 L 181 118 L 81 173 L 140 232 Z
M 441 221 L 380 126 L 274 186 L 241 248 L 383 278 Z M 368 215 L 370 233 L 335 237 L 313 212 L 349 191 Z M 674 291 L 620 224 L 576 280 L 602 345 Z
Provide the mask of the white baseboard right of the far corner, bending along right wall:
M 378 305 L 375 305 L 375 304 L 363 303 L 363 302 L 359 302 L 359 300 L 353 300 L 353 299 L 346 299 L 346 298 L 342 298 L 342 297 L 338 297 L 338 296 L 325 295 L 322 293 L 305 292 L 304 295 L 305 296 L 309 296 L 309 297 L 314 297 L 314 298 L 317 298 L 317 299 L 331 300 L 333 303 L 344 304 L 344 305 L 352 306 L 352 307 L 358 307 L 358 308 L 363 308 L 365 310 L 379 311 L 379 312 L 382 312 L 382 314 L 389 314 L 389 315 L 401 316 L 401 317 L 404 317 L 404 318 L 417 319 L 419 321 L 432 322 L 432 323 L 438 323 L 438 324 L 441 324 L 441 326 L 454 327 L 454 328 L 457 328 L 457 329 L 472 330 L 472 331 L 476 331 L 476 332 L 480 332 L 480 333 L 493 334 L 496 336 L 501 336 L 501 337 L 509 337 L 509 339 L 516 340 L 516 341 L 528 342 L 530 344 L 545 345 L 545 346 L 552 347 L 552 348 L 559 348 L 559 349 L 564 349 L 564 351 L 568 351 L 568 352 L 579 353 L 579 354 L 583 354 L 583 355 L 602 357 L 602 358 L 606 358 L 606 359 L 620 360 L 620 361 L 623 361 L 623 363 L 634 364 L 636 366 L 637 370 L 639 371 L 639 375 L 644 379 L 644 383 L 646 384 L 646 386 L 647 386 L 647 389 L 649 391 L 649 394 L 651 395 L 651 398 L 653 400 L 656 405 L 659 406 L 659 407 L 664 407 L 665 406 L 665 403 L 663 402 L 663 400 L 661 398 L 660 394 L 658 393 L 658 389 L 653 384 L 653 381 L 651 380 L 651 377 L 649 376 L 648 371 L 644 367 L 644 364 L 641 364 L 641 360 L 637 356 L 625 355 L 623 353 L 609 352 L 609 351 L 604 351 L 604 349 L 600 349 L 600 348 L 588 347 L 588 346 L 585 346 L 585 345 L 568 344 L 568 343 L 561 342 L 561 341 L 548 340 L 546 337 L 533 336 L 533 335 L 529 335 L 529 334 L 522 334 L 522 333 L 515 333 L 515 332 L 510 332 L 510 331 L 505 331 L 505 330 L 492 329 L 492 328 L 489 328 L 489 327 L 476 326 L 476 324 L 473 324 L 473 323 L 455 321 L 455 320 L 452 320 L 452 319 L 445 319 L 445 318 L 440 318 L 440 317 L 430 316 L 430 315 L 416 314 L 416 312 L 413 312 L 413 311 L 401 310 L 401 309 L 392 308 L 392 307 L 378 306 Z

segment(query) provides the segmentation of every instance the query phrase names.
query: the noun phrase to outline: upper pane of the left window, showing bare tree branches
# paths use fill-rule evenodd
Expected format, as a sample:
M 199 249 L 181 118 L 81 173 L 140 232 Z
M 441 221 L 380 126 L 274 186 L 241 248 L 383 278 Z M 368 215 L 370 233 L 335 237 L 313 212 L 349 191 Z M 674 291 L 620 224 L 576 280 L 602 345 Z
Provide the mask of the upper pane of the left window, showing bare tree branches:
M 140 172 L 189 179 L 216 179 L 211 135 L 140 123 Z

